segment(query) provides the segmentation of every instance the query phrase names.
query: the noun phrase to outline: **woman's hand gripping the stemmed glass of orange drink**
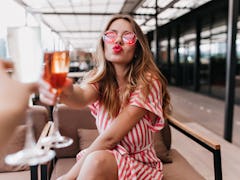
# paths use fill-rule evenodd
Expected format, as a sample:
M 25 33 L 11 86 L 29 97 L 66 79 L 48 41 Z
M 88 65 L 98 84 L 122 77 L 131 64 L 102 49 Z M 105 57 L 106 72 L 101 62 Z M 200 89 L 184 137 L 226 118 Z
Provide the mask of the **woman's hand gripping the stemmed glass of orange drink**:
M 68 96 L 73 91 L 73 81 L 66 78 L 65 84 L 62 88 L 61 96 Z M 54 105 L 57 101 L 57 90 L 53 89 L 51 85 L 41 79 L 39 81 L 40 100 L 47 105 Z

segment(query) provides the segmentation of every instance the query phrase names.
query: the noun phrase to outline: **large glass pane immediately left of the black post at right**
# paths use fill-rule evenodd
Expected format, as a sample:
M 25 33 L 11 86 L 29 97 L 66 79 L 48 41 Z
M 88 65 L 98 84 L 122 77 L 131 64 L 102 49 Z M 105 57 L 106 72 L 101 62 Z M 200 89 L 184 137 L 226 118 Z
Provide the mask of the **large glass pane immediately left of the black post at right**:
M 200 92 L 224 99 L 227 25 L 221 20 L 202 28 L 200 41 Z

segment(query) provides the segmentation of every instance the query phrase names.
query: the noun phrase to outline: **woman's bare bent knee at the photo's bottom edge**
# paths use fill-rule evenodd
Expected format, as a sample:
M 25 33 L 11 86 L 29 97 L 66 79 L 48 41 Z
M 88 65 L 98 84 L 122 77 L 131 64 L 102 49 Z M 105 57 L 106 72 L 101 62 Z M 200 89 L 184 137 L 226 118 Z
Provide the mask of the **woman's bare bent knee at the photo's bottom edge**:
M 78 175 L 78 180 L 117 180 L 118 167 L 114 155 L 109 151 L 89 154 Z

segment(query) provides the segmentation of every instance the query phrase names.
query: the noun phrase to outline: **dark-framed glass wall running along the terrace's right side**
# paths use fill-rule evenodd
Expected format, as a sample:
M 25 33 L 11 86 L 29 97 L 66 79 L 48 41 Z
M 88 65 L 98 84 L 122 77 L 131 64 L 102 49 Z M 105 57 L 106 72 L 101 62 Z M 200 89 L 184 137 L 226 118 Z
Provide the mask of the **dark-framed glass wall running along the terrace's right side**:
M 225 3 L 221 5 L 216 2 L 212 4 L 212 11 L 208 9 L 210 6 L 206 6 L 206 9 L 202 8 L 198 13 L 193 11 L 186 16 L 171 21 L 166 26 L 159 27 L 159 33 L 163 39 L 165 38 L 165 41 L 169 39 L 169 32 L 180 29 L 178 39 L 174 33 L 171 35 L 170 39 L 174 43 L 171 43 L 171 52 L 167 54 L 168 57 L 164 56 L 164 59 L 171 59 L 170 79 L 172 81 L 170 81 L 170 84 L 217 98 L 222 100 L 224 105 L 226 103 L 224 102 L 226 71 L 228 70 L 228 4 L 227 1 Z M 233 134 L 237 134 L 236 132 L 240 130 L 240 11 L 237 27 Z M 197 34 L 197 32 L 200 34 Z M 199 47 L 196 47 L 198 44 Z M 162 50 L 166 54 L 167 44 L 163 43 L 162 47 L 164 47 Z M 198 48 L 200 53 L 197 51 Z M 176 83 L 178 80 L 180 80 L 180 83 Z M 224 111 L 228 111 L 227 108 L 224 109 L 223 106 L 223 115 L 219 116 L 219 121 L 225 120 Z M 239 136 L 237 138 L 233 137 L 233 142 L 239 144 Z

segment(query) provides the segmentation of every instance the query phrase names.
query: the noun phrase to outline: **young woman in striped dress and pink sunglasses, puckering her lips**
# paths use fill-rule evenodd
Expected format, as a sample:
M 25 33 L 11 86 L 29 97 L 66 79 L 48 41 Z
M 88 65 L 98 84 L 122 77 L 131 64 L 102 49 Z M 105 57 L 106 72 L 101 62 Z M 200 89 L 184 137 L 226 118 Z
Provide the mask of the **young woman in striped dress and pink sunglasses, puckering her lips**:
M 170 98 L 148 42 L 130 16 L 109 21 L 95 58 L 96 69 L 82 85 L 66 81 L 61 102 L 89 106 L 100 135 L 59 179 L 161 179 L 152 133 L 163 128 Z M 49 84 L 42 81 L 40 92 L 43 102 L 55 103 Z

